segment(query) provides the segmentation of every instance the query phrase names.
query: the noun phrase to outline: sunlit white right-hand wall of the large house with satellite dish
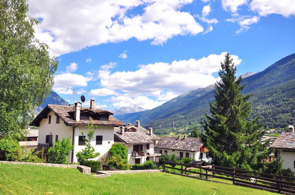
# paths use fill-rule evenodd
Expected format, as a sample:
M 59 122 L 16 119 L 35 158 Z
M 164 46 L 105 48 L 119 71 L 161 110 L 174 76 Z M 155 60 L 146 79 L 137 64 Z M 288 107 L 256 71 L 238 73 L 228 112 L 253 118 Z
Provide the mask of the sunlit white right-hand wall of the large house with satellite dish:
M 85 125 L 79 125 L 75 128 L 75 141 L 74 141 L 74 162 L 78 161 L 76 153 L 81 151 L 85 146 L 79 146 L 79 136 L 82 136 L 81 131 L 87 137 L 87 131 Z M 102 135 L 102 145 L 96 145 L 96 136 Z M 91 140 L 91 145 L 95 148 L 96 152 L 100 153 L 100 156 L 104 155 L 114 144 L 114 126 L 98 126 L 95 129 L 94 137 Z M 100 157 L 99 156 L 99 157 Z M 97 160 L 99 157 L 95 158 Z

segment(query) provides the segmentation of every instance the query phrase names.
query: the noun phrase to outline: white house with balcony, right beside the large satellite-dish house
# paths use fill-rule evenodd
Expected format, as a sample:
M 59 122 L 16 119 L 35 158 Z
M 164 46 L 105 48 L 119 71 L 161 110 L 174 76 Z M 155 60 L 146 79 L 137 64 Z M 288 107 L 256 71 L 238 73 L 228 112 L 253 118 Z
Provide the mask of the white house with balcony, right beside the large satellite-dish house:
M 145 129 L 136 122 L 136 126 L 128 123 L 127 126 L 115 127 L 114 140 L 128 148 L 128 163 L 143 164 L 147 160 L 155 160 L 161 155 L 154 149 L 160 138 L 152 133 L 152 128 Z

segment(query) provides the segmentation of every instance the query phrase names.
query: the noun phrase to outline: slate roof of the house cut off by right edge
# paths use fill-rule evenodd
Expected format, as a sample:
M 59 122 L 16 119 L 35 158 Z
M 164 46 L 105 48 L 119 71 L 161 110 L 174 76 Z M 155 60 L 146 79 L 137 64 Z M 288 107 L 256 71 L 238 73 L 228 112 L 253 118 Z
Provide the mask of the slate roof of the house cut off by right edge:
M 287 143 L 293 143 L 287 145 Z M 271 145 L 274 148 L 295 149 L 295 132 L 282 133 Z

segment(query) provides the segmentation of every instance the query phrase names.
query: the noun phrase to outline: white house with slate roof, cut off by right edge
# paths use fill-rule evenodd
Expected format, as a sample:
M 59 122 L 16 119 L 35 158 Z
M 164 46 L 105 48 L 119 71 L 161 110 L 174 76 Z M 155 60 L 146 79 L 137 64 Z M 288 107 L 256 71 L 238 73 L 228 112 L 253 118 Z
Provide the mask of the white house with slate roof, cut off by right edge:
M 275 148 L 275 156 L 282 157 L 283 168 L 295 172 L 295 132 L 282 133 L 271 145 Z

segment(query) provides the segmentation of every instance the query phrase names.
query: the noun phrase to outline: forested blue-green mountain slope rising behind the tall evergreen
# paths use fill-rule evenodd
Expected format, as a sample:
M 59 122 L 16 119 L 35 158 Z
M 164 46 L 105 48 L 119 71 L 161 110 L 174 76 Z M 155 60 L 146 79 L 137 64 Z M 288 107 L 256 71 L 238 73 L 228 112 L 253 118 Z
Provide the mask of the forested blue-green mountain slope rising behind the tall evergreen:
M 251 118 L 260 116 L 265 126 L 285 127 L 295 114 L 295 53 L 260 73 L 242 75 L 244 94 L 253 94 Z M 141 121 L 145 127 L 165 128 L 204 121 L 209 102 L 214 101 L 214 85 L 187 92 L 148 111 L 123 115 L 123 122 Z

